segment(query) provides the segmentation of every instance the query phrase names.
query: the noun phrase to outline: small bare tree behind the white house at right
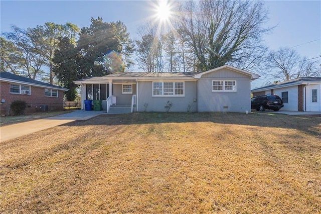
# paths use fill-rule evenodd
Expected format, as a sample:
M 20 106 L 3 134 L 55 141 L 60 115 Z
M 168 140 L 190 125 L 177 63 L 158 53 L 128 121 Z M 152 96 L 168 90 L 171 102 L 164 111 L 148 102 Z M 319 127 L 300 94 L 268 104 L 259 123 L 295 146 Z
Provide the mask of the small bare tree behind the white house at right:
M 309 61 L 306 57 L 301 57 L 295 50 L 288 47 L 270 51 L 266 62 L 266 74 L 282 81 L 321 74 L 320 69 L 315 66 L 315 62 Z

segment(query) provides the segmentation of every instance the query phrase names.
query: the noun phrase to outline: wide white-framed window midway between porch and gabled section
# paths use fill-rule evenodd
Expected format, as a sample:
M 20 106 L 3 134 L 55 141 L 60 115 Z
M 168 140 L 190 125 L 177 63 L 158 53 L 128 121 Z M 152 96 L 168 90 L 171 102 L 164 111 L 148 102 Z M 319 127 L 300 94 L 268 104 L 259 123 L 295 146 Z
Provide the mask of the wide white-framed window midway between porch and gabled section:
M 184 96 L 184 82 L 153 82 L 153 96 Z

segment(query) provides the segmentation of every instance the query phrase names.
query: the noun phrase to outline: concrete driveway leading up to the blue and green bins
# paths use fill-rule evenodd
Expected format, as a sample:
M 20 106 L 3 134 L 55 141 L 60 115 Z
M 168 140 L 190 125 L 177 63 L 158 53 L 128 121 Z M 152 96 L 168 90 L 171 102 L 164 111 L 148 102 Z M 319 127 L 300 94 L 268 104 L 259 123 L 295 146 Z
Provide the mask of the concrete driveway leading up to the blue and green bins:
M 18 138 L 30 133 L 49 129 L 62 124 L 67 124 L 76 120 L 88 120 L 98 115 L 107 114 L 105 111 L 83 111 L 76 110 L 74 112 L 50 117 L 46 119 L 28 121 L 19 124 L 0 127 L 0 142 Z

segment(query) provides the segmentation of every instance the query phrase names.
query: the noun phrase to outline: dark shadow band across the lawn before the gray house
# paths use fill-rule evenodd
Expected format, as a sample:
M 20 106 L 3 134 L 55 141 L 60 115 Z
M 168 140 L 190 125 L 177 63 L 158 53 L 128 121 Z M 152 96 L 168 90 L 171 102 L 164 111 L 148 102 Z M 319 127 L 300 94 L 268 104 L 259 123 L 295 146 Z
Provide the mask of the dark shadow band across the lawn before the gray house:
M 321 117 L 289 116 L 273 113 L 133 113 L 100 115 L 87 121 L 76 121 L 62 126 L 117 126 L 198 122 L 297 129 L 310 135 L 321 136 Z M 197 127 L 195 128 L 197 129 Z

